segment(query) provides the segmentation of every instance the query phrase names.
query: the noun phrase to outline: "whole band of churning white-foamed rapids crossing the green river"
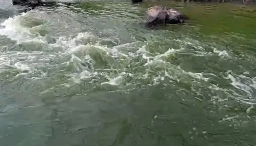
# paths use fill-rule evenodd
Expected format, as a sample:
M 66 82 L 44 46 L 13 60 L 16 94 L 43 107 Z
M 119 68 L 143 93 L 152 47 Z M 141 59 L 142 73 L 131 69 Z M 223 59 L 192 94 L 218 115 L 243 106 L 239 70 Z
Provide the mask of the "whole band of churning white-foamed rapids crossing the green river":
M 35 17 L 31 13 L 22 13 L 1 23 L 0 35 L 17 42 L 17 45 L 26 50 L 2 52 L 0 72 L 13 70 L 16 73 L 12 80 L 17 77 L 54 80 L 56 76 L 64 76 L 65 80 L 53 87 L 41 88 L 41 94 L 55 90 L 55 87 L 68 89 L 82 83 L 104 90 L 129 90 L 159 84 L 168 86 L 177 82 L 191 87 L 197 97 L 195 100 L 211 101 L 214 104 L 226 102 L 226 97 L 219 96 L 222 92 L 245 104 L 255 103 L 255 77 L 228 71 L 223 78 L 230 81 L 229 85 L 233 88 L 226 89 L 218 86 L 221 83 L 213 82 L 220 75 L 188 71 L 174 63 L 179 55 L 231 58 L 227 50 L 209 47 L 209 44 L 189 37 L 167 40 L 179 45 L 168 49 L 159 45 L 159 50 L 156 50 L 152 49 L 152 41 L 120 44 L 116 37 L 100 38 L 90 32 L 80 32 L 76 36 L 58 36 L 55 42 L 49 42 L 46 36 L 40 35 L 40 27 L 47 29 L 47 25 L 51 23 L 53 22 Z M 106 45 L 109 43 L 114 46 Z M 53 72 L 54 70 L 58 71 Z M 205 89 L 207 93 L 201 93 Z

